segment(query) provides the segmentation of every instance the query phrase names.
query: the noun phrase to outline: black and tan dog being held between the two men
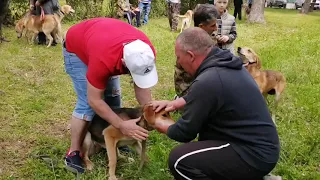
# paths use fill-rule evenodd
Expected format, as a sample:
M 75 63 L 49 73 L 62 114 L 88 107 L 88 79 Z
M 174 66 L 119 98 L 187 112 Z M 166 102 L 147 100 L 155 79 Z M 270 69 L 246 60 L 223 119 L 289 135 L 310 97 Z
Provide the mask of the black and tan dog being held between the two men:
M 145 105 L 142 109 L 120 108 L 115 109 L 114 112 L 123 120 L 140 117 L 140 121 L 137 124 L 148 131 L 153 130 L 156 120 L 174 122 L 171 119 L 170 114 L 164 110 L 155 113 L 151 104 Z M 107 121 L 103 120 L 98 115 L 95 115 L 82 143 L 83 160 L 86 168 L 92 170 L 93 163 L 89 160 L 89 156 L 96 153 L 101 147 L 104 147 L 107 150 L 109 159 L 109 180 L 116 180 L 117 155 L 122 157 L 117 147 L 124 145 L 133 145 L 135 147 L 137 153 L 140 155 L 140 168 L 142 168 L 144 163 L 148 160 L 146 155 L 146 141 L 140 142 L 125 136 L 119 129 L 116 129 Z

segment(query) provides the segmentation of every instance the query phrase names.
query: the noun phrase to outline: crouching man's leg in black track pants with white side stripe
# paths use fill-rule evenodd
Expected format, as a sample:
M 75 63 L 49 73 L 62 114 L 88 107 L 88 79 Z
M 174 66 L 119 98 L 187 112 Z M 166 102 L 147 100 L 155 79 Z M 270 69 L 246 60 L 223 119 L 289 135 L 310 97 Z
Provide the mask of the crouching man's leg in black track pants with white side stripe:
M 176 180 L 262 180 L 268 173 L 250 167 L 229 143 L 222 141 L 182 144 L 170 152 L 168 163 Z

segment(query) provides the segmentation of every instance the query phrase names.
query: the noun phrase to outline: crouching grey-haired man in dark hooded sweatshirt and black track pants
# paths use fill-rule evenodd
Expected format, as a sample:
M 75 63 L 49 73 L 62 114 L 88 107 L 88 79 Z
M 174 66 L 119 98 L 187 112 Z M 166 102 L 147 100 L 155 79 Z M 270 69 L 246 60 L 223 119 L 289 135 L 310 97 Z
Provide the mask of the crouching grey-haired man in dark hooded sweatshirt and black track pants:
M 278 162 L 279 138 L 242 60 L 213 46 L 209 34 L 198 27 L 177 37 L 175 53 L 195 80 L 185 96 L 151 102 L 156 112 L 184 108 L 176 123 L 155 123 L 157 131 L 184 143 L 169 155 L 174 178 L 262 179 Z

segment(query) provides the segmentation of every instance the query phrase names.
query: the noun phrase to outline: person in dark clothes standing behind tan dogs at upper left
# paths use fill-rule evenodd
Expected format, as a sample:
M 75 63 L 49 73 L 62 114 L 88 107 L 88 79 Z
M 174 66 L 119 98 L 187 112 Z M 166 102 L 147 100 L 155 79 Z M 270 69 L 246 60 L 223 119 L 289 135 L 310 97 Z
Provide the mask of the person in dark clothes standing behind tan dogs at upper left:
M 36 16 L 41 15 L 41 7 L 43 8 L 44 14 L 54 14 L 60 10 L 58 0 L 30 0 L 30 10 L 32 14 Z M 53 34 L 51 34 L 52 37 Z M 46 44 L 46 35 L 43 32 L 38 34 L 38 44 Z M 55 46 L 57 42 L 53 39 L 52 46 Z

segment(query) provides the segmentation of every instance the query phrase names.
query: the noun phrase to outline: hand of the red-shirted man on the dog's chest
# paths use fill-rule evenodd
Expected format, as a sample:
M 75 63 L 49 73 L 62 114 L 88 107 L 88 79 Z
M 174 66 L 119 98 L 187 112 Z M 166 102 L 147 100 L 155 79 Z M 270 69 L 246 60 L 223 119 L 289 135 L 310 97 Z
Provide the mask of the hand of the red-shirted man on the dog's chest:
M 138 121 L 140 121 L 140 118 L 122 121 L 119 129 L 126 136 L 132 137 L 136 140 L 146 140 L 148 137 L 148 130 L 138 126 L 136 124 Z

